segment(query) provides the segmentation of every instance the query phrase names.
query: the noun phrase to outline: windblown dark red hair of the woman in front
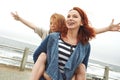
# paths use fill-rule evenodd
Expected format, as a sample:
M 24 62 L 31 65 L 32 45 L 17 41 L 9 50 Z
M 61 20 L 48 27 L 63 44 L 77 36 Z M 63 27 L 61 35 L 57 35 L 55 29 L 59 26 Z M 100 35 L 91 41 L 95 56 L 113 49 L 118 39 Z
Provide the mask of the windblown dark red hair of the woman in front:
M 73 7 L 72 10 L 76 10 L 79 13 L 83 24 L 82 26 L 80 26 L 78 31 L 78 41 L 82 44 L 86 44 L 90 39 L 95 37 L 95 31 L 92 27 L 90 27 L 88 17 L 82 9 L 80 9 L 79 7 Z

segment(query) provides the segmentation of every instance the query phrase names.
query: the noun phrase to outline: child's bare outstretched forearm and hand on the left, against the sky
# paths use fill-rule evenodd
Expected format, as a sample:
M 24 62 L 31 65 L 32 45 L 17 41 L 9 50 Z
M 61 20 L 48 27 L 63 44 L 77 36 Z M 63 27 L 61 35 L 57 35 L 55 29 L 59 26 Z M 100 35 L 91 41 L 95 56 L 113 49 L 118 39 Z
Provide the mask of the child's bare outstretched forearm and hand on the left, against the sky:
M 29 28 L 31 28 L 33 30 L 35 30 L 35 28 L 37 27 L 36 25 L 32 24 L 31 22 L 20 17 L 17 12 L 15 12 L 15 13 L 11 12 L 11 15 L 13 16 L 13 18 L 15 20 L 22 22 L 23 24 L 25 24 L 26 26 L 28 26 Z

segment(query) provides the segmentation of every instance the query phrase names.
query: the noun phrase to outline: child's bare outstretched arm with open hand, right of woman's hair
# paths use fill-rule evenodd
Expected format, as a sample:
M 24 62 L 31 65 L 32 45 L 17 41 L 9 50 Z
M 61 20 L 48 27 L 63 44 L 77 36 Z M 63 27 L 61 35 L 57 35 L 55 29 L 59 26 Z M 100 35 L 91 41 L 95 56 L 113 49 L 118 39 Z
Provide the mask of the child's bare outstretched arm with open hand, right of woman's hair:
M 109 26 L 100 29 L 95 29 L 96 34 L 107 31 L 120 31 L 120 23 L 114 24 L 114 19 L 113 19 Z

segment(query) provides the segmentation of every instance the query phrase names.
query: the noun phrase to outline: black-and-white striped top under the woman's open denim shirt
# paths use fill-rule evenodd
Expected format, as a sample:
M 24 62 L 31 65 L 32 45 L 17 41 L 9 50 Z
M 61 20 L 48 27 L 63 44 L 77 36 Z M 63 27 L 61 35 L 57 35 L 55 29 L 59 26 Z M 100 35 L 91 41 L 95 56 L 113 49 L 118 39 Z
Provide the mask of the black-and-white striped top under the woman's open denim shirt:
M 64 73 L 64 66 L 71 56 L 72 52 L 75 50 L 76 45 L 70 45 L 64 42 L 61 38 L 59 38 L 58 42 L 58 64 L 59 70 L 61 73 Z

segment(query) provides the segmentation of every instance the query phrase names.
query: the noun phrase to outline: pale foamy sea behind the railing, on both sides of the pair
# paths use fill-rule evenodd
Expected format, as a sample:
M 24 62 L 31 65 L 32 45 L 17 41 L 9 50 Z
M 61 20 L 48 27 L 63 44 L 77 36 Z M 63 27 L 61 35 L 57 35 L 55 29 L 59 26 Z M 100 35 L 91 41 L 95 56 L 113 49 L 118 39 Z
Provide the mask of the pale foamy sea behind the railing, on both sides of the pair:
M 0 63 L 7 65 L 20 66 L 21 59 L 25 48 L 29 48 L 29 55 L 27 59 L 27 68 L 33 66 L 33 52 L 37 48 L 37 45 L 30 44 L 23 41 L 14 40 L 6 36 L 0 36 Z M 94 59 L 89 60 L 87 73 L 102 78 L 104 75 L 104 68 L 108 66 L 109 80 L 120 79 L 120 66 L 100 62 Z

